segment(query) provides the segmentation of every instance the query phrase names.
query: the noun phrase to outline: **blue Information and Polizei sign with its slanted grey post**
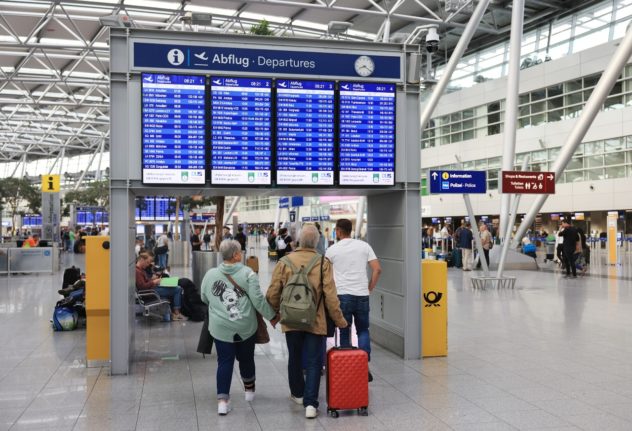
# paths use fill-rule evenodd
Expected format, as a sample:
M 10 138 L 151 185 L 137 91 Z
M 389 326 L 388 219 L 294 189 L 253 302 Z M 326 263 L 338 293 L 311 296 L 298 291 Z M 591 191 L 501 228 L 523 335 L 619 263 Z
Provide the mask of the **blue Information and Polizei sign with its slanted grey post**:
M 478 232 L 478 223 L 474 216 L 474 209 L 470 194 L 487 193 L 487 173 L 485 171 L 449 171 L 449 170 L 430 170 L 428 171 L 428 184 L 431 194 L 462 194 L 465 208 L 472 224 L 472 236 L 476 244 L 476 250 L 480 258 L 481 266 L 485 277 L 489 277 L 489 266 L 487 261 L 483 259 L 485 254 L 483 244 Z M 467 193 L 464 193 L 467 192 Z

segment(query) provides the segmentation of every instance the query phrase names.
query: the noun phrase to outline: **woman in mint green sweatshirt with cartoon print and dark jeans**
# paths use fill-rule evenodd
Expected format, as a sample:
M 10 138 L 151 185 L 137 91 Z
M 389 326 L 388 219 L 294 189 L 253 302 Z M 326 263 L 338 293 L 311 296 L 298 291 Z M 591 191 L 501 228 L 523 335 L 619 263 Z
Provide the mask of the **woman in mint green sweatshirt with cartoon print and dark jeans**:
M 217 348 L 217 413 L 231 410 L 230 384 L 235 358 L 246 390 L 255 398 L 255 333 L 257 315 L 276 324 L 276 312 L 259 287 L 259 276 L 241 263 L 241 245 L 224 240 L 219 246 L 224 263 L 210 269 L 202 280 L 202 301 L 208 304 L 209 332 Z M 235 286 L 237 285 L 237 286 Z

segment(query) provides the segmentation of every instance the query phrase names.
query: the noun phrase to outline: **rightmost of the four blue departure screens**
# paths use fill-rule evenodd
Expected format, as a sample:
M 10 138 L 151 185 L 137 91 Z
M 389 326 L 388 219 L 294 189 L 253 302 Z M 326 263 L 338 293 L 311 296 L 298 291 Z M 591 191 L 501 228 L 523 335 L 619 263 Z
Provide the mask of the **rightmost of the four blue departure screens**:
M 395 85 L 340 83 L 340 185 L 395 184 Z

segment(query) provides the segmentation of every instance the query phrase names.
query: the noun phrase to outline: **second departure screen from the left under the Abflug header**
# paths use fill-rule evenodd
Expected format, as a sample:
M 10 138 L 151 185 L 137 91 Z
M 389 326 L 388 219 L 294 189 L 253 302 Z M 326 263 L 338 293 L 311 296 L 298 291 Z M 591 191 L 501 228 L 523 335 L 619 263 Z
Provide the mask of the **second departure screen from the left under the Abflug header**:
M 271 184 L 272 81 L 211 78 L 211 183 Z

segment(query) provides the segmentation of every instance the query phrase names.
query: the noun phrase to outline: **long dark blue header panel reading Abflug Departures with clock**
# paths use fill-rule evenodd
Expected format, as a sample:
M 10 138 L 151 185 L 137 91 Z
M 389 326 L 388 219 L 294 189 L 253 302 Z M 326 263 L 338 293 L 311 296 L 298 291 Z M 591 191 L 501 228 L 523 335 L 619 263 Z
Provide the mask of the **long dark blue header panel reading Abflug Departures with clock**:
M 395 55 L 134 43 L 134 68 L 401 80 Z

